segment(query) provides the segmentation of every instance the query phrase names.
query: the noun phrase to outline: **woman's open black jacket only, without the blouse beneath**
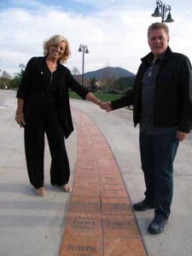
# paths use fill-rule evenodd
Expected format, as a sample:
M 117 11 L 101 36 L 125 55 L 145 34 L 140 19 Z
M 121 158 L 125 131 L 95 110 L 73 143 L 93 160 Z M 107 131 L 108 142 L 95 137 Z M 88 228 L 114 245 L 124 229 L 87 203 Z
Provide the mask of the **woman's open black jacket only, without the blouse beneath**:
M 42 76 L 44 75 L 44 68 L 46 65 L 45 59 L 46 57 L 32 57 L 32 59 L 28 61 L 25 73 L 23 74 L 17 91 L 18 98 L 24 99 L 24 101 L 27 102 L 30 93 L 34 92 L 32 91 L 34 87 L 33 85 L 35 84 L 36 88 L 37 85 L 41 86 L 43 83 Z M 69 104 L 69 88 L 77 92 L 83 99 L 89 93 L 89 90 L 73 79 L 73 75 L 68 68 L 61 65 L 61 63 L 58 63 L 56 72 L 56 83 L 58 83 L 57 86 L 59 86 L 58 105 L 61 126 L 64 131 L 64 136 L 67 138 L 73 131 L 73 121 Z

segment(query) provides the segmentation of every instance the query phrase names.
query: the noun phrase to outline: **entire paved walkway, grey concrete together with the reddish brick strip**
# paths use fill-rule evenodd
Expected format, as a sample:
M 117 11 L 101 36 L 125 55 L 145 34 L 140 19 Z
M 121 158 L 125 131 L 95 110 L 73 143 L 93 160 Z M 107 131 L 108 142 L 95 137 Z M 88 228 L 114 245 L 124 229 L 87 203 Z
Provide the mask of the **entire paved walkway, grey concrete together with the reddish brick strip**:
M 106 113 L 91 102 L 70 102 L 76 124 L 66 144 L 73 193 L 50 185 L 46 142 L 47 193 L 40 198 L 27 177 L 23 130 L 15 123 L 15 91 L 0 90 L 0 255 L 192 255 L 192 132 L 175 160 L 171 218 L 165 231 L 153 236 L 148 224 L 154 210 L 131 212 L 145 189 L 139 129 L 133 127 L 131 111 Z

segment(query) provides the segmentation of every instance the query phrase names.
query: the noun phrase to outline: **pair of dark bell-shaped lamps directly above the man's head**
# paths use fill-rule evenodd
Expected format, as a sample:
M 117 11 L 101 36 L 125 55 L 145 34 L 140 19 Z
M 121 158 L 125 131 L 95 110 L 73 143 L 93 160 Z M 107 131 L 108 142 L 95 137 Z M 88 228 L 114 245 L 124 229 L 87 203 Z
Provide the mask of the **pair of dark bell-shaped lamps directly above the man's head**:
M 172 15 L 171 15 L 171 6 L 165 3 L 162 3 L 160 0 L 156 1 L 156 8 L 154 10 L 154 14 L 151 15 L 153 17 L 161 17 L 161 22 L 173 22 Z M 166 12 L 169 12 L 166 17 Z M 165 20 L 166 18 L 166 20 Z

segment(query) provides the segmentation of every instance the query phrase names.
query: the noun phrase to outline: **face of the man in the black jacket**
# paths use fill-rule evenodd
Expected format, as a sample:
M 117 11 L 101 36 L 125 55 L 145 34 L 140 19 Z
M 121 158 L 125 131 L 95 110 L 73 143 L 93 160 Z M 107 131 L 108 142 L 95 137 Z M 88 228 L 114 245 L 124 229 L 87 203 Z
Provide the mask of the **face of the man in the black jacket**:
M 154 29 L 149 32 L 148 45 L 155 58 L 165 53 L 168 43 L 169 36 L 163 28 Z

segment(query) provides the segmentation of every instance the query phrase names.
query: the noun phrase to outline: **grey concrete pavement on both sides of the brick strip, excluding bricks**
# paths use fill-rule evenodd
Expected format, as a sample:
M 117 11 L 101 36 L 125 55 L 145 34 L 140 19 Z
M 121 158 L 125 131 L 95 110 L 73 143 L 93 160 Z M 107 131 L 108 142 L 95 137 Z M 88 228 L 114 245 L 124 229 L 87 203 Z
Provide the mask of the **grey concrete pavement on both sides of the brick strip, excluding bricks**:
M 105 113 L 90 102 L 71 101 L 85 113 L 106 137 L 129 192 L 131 202 L 143 199 L 144 183 L 138 151 L 138 129 L 132 113 L 120 109 Z M 47 195 L 34 195 L 26 175 L 23 131 L 15 124 L 15 91 L 0 90 L 0 255 L 58 255 L 68 196 L 49 184 L 49 149 L 45 150 Z M 67 139 L 72 182 L 77 160 L 77 131 Z M 172 215 L 159 236 L 148 234 L 153 210 L 136 212 L 137 222 L 149 256 L 192 254 L 192 136 L 178 149 L 175 161 L 175 189 Z M 67 255 L 66 255 L 67 256 Z

